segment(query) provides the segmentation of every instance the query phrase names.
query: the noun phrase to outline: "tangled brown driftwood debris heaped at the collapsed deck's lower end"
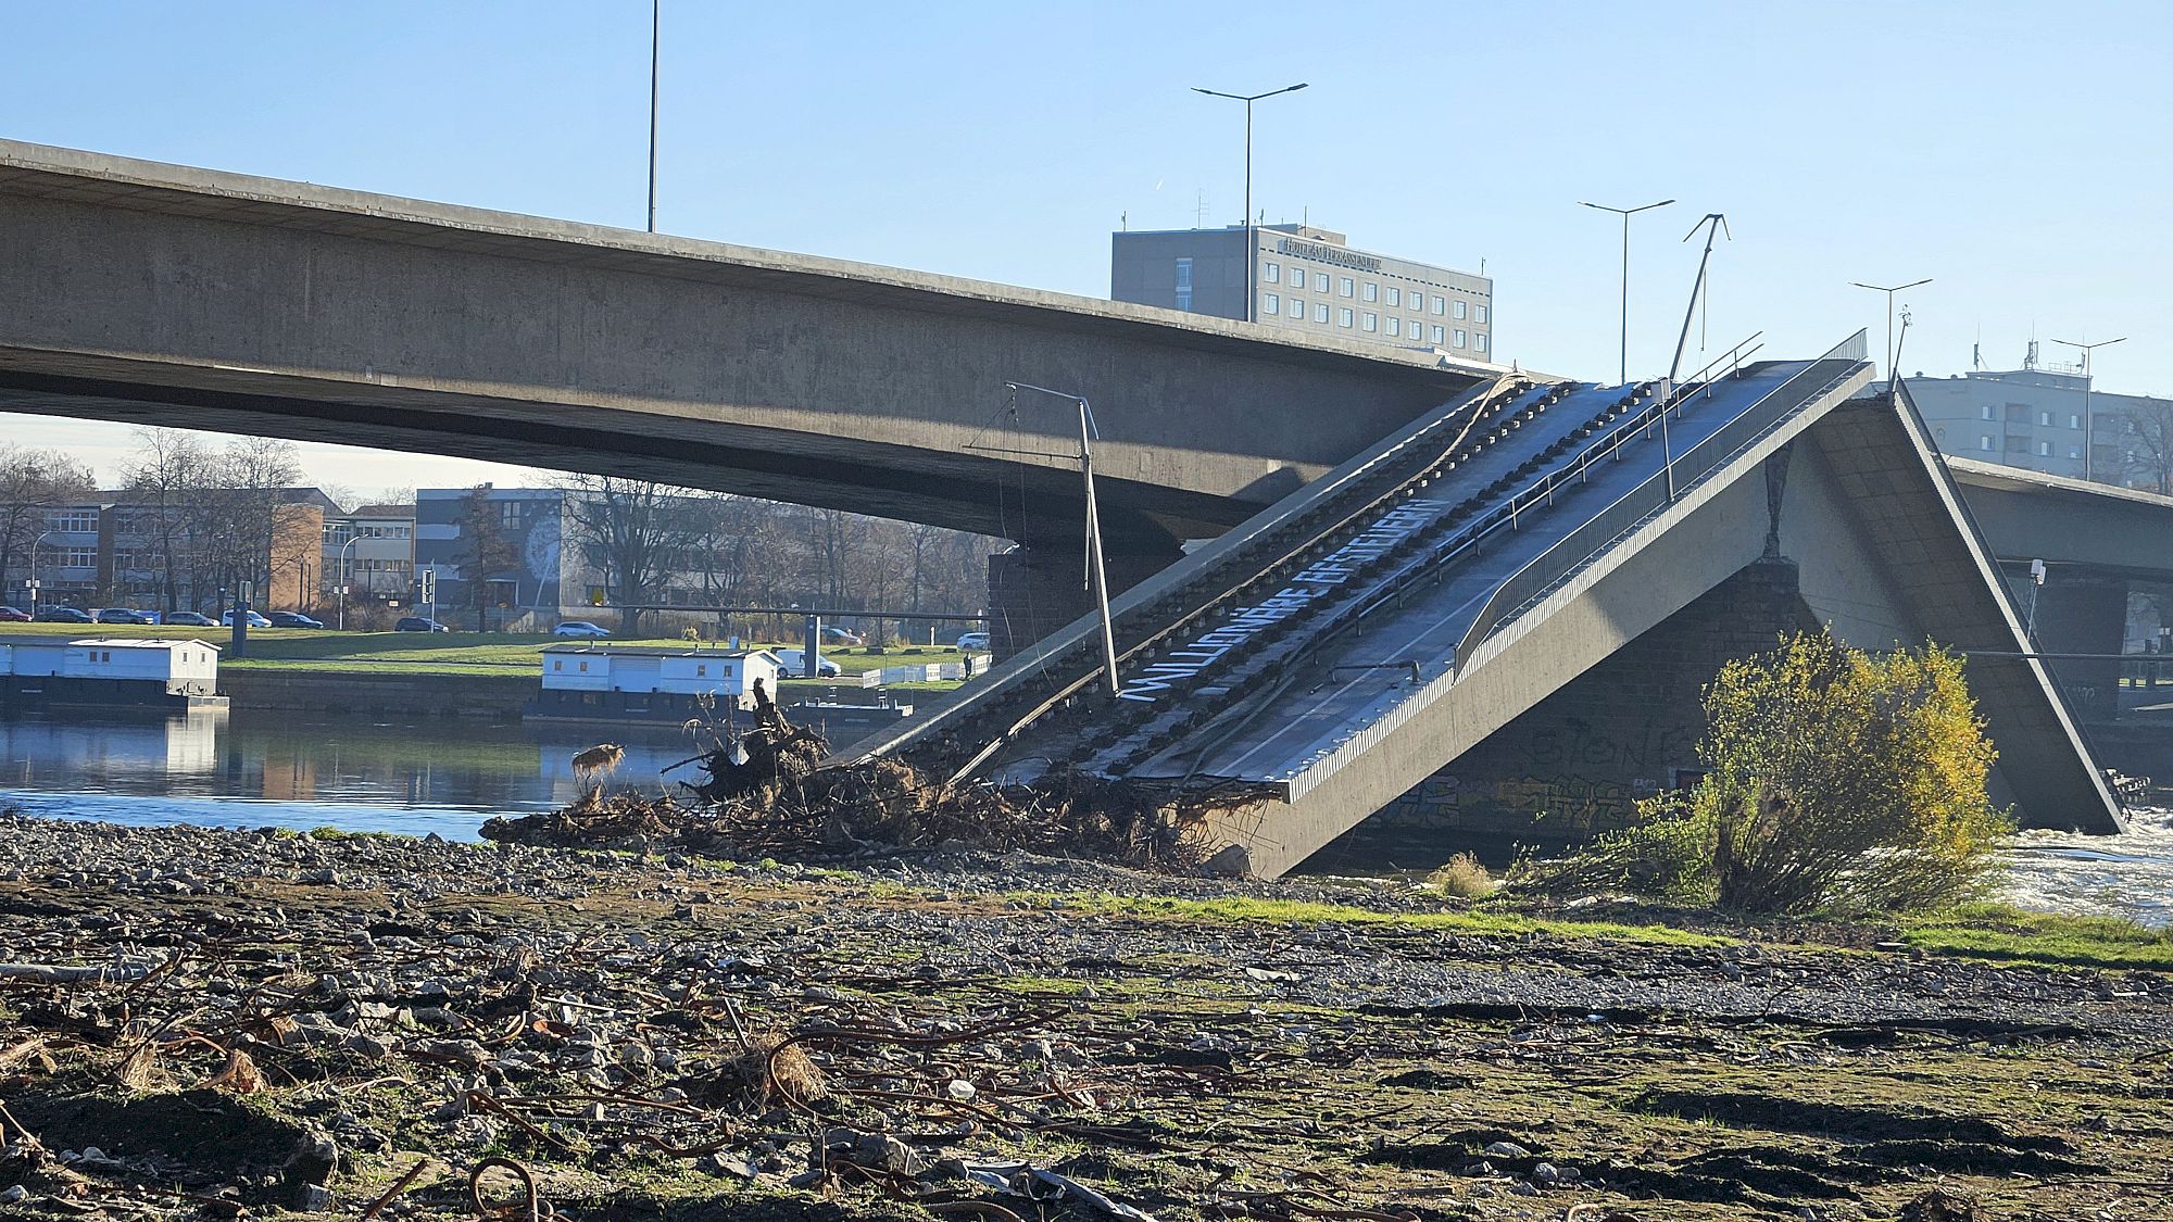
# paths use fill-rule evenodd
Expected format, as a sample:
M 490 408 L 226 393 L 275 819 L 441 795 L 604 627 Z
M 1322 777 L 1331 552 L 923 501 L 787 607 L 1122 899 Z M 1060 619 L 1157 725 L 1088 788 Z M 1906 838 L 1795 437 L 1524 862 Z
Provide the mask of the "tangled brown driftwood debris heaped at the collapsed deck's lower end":
M 691 722 L 706 774 L 680 796 L 589 789 L 574 805 L 482 826 L 487 839 L 552 848 L 689 850 L 708 857 L 856 861 L 939 846 L 1089 857 L 1139 870 L 1197 872 L 1215 811 L 1249 794 L 1186 800 L 1067 774 L 1037 785 L 943 785 L 902 759 L 824 768 L 828 741 L 774 707 L 743 733 Z M 680 768 L 680 765 L 674 765 Z

